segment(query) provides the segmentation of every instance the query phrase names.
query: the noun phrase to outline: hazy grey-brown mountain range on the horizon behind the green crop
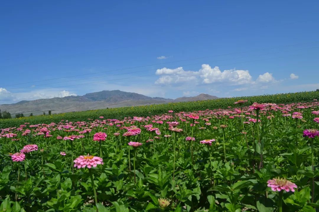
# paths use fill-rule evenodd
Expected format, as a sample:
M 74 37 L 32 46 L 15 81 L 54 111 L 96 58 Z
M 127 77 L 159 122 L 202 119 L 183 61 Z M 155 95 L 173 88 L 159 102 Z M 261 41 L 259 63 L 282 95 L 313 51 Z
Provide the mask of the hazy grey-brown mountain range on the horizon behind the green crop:
M 201 93 L 194 97 L 180 97 L 177 99 L 165 99 L 160 97 L 149 97 L 138 93 L 124 92 L 120 90 L 100 91 L 87 93 L 83 96 L 55 97 L 51 99 L 23 100 L 14 104 L 0 105 L 1 111 L 8 111 L 12 115 L 23 113 L 28 116 L 40 115 L 43 112 L 65 113 L 72 111 L 95 110 L 111 107 L 136 106 L 162 104 L 168 102 L 186 102 L 207 99 L 218 99 L 216 96 Z

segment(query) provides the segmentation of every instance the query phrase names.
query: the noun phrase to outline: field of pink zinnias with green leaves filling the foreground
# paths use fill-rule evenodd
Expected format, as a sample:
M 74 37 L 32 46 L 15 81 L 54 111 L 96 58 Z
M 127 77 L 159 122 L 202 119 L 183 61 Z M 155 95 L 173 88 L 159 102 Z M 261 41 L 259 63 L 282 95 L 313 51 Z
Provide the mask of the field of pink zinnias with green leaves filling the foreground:
M 144 117 L 7 122 L 0 211 L 319 209 L 319 102 L 231 100 Z

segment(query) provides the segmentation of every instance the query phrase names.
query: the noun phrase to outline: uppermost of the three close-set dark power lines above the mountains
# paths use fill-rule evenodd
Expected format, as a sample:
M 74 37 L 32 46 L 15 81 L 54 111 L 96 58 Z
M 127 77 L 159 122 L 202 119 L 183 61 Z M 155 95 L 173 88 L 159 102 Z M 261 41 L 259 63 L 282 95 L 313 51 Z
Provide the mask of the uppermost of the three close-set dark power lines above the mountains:
M 197 60 L 197 59 L 205 59 L 205 58 L 211 58 L 211 57 L 227 56 L 227 55 L 240 54 L 240 53 L 248 53 L 248 52 L 252 52 L 252 51 L 263 51 L 263 50 L 270 50 L 270 49 L 276 49 L 276 48 L 297 46 L 297 45 L 303 45 L 303 44 L 313 44 L 313 43 L 318 43 L 318 42 L 319 42 L 319 41 L 313 41 L 313 42 L 300 43 L 300 44 L 291 44 L 291 45 L 276 46 L 276 47 L 271 47 L 271 48 L 255 49 L 255 50 L 249 50 L 249 51 L 239 51 L 239 52 L 233 52 L 233 53 L 227 53 L 227 54 L 220 54 L 220 55 L 213 55 L 213 56 L 207 56 L 207 57 L 190 58 L 190 59 L 177 60 L 177 61 L 165 62 L 165 63 L 157 63 L 157 64 L 150 64 L 150 65 L 140 65 L 140 66 L 135 66 L 135 67 L 128 67 L 128 68 L 122 68 L 122 69 L 114 69 L 114 70 L 103 71 L 103 72 L 86 73 L 86 74 L 79 74 L 79 75 L 73 75 L 73 76 L 68 76 L 68 77 L 59 77 L 59 78 L 52 78 L 52 79 L 44 79 L 44 80 L 24 82 L 24 83 L 17 83 L 17 84 L 11 84 L 11 85 L 1 85 L 0 87 L 6 87 L 6 86 L 12 86 L 12 85 L 23 85 L 23 84 L 36 83 L 36 82 L 44 82 L 44 81 L 55 80 L 55 79 L 64 79 L 64 78 L 71 78 L 71 77 L 79 77 L 79 76 L 85 76 L 85 75 L 91 75 L 91 74 L 97 74 L 97 73 L 105 73 L 105 72 L 121 71 L 121 70 L 133 69 L 133 68 L 142 68 L 142 67 L 153 66 L 153 65 L 164 65 L 164 64 L 177 63 L 177 62 L 183 62 L 183 61 L 189 61 L 189 60 Z

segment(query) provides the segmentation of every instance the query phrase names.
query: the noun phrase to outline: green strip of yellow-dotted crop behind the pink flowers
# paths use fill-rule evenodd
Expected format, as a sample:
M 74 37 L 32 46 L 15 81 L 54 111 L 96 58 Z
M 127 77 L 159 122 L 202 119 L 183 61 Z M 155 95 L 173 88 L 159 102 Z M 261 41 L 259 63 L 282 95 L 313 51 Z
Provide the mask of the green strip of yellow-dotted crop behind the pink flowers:
M 166 113 L 167 110 L 180 111 L 194 111 L 205 109 L 217 109 L 233 106 L 236 99 L 248 99 L 246 105 L 251 105 L 253 102 L 272 102 L 272 103 L 292 103 L 292 102 L 307 102 L 312 99 L 319 99 L 319 92 L 298 92 L 298 93 L 284 93 L 274 95 L 238 97 L 238 98 L 222 98 L 213 100 L 204 100 L 196 102 L 177 102 L 159 105 L 147 106 L 132 106 L 132 107 L 118 107 L 110 109 L 90 110 L 83 112 L 60 113 L 54 115 L 31 116 L 19 119 L 0 120 L 0 129 L 5 127 L 18 127 L 25 122 L 30 124 L 59 122 L 61 120 L 69 121 L 83 121 L 87 119 L 96 119 L 99 116 L 104 116 L 109 119 L 123 119 L 124 117 L 133 116 L 150 116 L 161 113 Z

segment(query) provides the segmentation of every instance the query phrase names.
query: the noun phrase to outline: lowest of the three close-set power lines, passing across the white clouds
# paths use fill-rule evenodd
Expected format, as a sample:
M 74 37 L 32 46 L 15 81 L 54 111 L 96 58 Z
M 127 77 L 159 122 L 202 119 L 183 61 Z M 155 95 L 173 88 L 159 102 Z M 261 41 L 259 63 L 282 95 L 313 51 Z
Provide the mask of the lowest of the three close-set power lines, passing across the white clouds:
M 234 64 L 240 64 L 240 63 L 251 63 L 251 62 L 262 61 L 262 60 L 285 58 L 285 57 L 299 56 L 299 55 L 312 54 L 312 53 L 316 53 L 316 52 L 307 52 L 307 53 L 303 53 L 303 54 L 294 54 L 294 55 L 288 55 L 288 56 L 282 56 L 282 57 L 258 59 L 258 60 L 251 60 L 251 61 L 245 61 L 245 62 L 237 62 L 237 63 L 231 63 L 231 64 L 217 65 L 217 66 L 234 65 Z M 193 70 L 193 69 L 184 70 L 184 71 L 191 71 L 191 70 Z M 176 72 L 180 72 L 180 70 L 179 70 L 179 71 L 175 71 L 175 72 L 170 72 L 170 73 L 176 73 Z M 77 85 L 87 85 L 87 84 L 93 84 L 93 83 L 110 82 L 110 81 L 116 81 L 116 80 L 122 80 L 122 79 L 133 79 L 133 78 L 139 78 L 139 77 L 148 77 L 148 76 L 154 76 L 154 75 L 157 75 L 157 74 L 149 74 L 149 75 L 141 75 L 141 76 L 135 76 L 135 77 L 120 78 L 120 79 L 111 79 L 111 80 L 95 81 L 95 82 L 81 83 L 81 84 L 75 84 L 75 85 L 63 85 L 63 86 L 58 86 L 58 87 L 42 88 L 42 89 L 28 90 L 28 91 L 2 93 L 2 94 L 0 94 L 0 95 L 10 95 L 10 94 L 13 94 L 13 93 L 22 93 L 22 92 L 30 92 L 30 91 L 41 91 L 41 90 L 55 89 L 55 88 L 63 88 L 63 87 L 70 87 L 70 86 L 77 86 Z

